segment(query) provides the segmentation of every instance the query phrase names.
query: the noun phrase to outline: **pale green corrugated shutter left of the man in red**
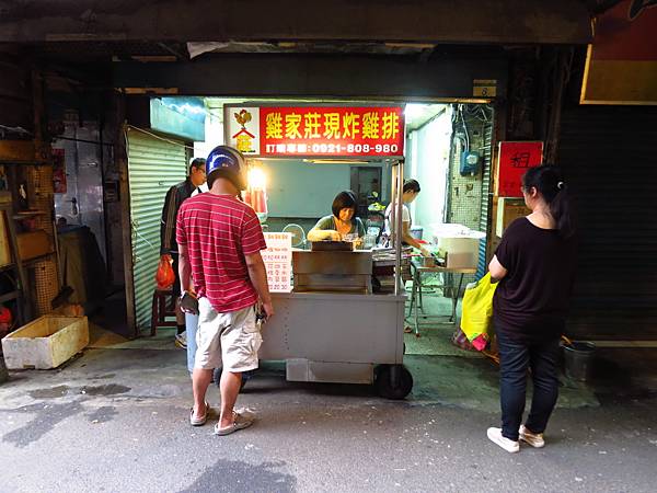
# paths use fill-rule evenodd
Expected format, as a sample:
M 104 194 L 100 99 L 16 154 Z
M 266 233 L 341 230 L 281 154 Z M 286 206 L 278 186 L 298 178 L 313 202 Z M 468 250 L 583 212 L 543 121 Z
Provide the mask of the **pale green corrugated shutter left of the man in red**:
M 176 142 L 176 144 L 173 144 Z M 155 270 L 160 259 L 160 222 L 170 186 L 186 175 L 183 142 L 128 129 L 128 173 L 132 227 L 136 323 L 150 324 Z

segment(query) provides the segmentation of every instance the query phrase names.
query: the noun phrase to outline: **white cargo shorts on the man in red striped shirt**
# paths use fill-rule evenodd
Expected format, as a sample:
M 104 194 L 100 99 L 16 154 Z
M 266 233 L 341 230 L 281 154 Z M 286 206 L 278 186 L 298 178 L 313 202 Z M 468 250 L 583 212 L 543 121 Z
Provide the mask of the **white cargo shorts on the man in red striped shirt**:
M 218 313 L 207 298 L 198 300 L 198 331 L 194 368 L 220 368 L 233 374 L 257 368 L 263 342 L 255 307 Z

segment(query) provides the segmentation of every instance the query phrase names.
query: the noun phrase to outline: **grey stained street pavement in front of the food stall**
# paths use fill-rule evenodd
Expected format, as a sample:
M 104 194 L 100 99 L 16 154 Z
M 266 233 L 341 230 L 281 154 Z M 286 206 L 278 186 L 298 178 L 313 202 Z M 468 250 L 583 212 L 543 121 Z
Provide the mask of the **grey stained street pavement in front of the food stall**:
M 184 352 L 88 349 L 0 386 L 0 491 L 655 491 L 656 355 L 608 355 L 623 377 L 562 399 L 548 446 L 509 455 L 485 437 L 499 420 L 486 359 L 408 356 L 415 387 L 397 402 L 267 363 L 239 402 L 260 421 L 217 437 L 187 423 Z

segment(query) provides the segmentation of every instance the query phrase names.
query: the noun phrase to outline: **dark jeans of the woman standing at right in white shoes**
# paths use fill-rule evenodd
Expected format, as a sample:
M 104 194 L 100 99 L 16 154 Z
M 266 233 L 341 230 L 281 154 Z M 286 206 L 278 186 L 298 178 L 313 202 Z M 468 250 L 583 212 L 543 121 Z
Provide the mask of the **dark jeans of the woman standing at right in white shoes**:
M 518 440 L 527 390 L 527 368 L 531 368 L 533 395 L 525 426 L 543 433 L 558 395 L 557 362 L 560 340 L 522 343 L 497 331 L 499 347 L 499 399 L 502 402 L 502 435 Z

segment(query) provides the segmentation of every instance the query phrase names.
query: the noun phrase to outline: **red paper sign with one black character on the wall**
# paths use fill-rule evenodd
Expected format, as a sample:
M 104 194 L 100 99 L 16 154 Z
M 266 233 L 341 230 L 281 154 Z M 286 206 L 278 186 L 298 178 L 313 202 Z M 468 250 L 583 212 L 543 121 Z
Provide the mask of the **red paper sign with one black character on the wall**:
M 543 162 L 543 142 L 499 142 L 496 195 L 522 197 L 522 175 Z

